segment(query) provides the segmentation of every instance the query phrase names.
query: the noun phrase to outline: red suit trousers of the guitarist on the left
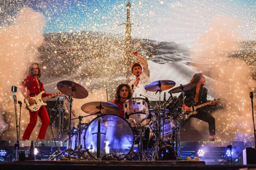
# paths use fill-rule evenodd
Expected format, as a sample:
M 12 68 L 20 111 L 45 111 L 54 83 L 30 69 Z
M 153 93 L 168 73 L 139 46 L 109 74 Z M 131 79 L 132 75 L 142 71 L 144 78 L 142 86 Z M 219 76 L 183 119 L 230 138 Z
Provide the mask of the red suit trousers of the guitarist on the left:
M 42 125 L 40 127 L 39 134 L 38 134 L 37 138 L 44 139 L 46 136 L 47 127 L 50 123 L 50 119 L 49 119 L 46 107 L 41 106 L 41 108 L 39 110 L 37 110 L 36 112 L 31 112 L 29 110 L 29 115 L 30 115 L 30 121 L 24 131 L 23 138 L 26 140 L 29 140 L 31 133 L 32 133 L 33 129 L 35 128 L 35 125 L 37 124 L 37 115 L 38 115 L 40 117 L 40 119 L 42 120 Z

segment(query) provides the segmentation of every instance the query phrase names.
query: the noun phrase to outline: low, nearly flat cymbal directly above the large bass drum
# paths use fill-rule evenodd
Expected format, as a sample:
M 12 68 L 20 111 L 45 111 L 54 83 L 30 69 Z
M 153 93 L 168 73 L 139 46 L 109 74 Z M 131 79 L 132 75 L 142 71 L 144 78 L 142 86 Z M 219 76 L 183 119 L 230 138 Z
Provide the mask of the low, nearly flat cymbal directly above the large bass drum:
M 101 110 L 100 110 L 101 106 Z M 113 103 L 108 102 L 89 102 L 81 106 L 81 110 L 89 115 L 93 115 L 101 111 L 102 114 L 118 114 L 119 107 Z

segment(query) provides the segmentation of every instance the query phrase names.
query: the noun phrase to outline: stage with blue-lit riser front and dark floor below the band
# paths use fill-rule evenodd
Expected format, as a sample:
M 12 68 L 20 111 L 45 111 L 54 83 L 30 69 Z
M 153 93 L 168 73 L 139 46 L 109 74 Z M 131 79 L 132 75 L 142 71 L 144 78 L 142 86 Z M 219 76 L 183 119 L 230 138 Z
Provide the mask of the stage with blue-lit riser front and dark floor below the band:
M 49 156 L 56 151 L 54 142 L 43 141 L 35 142 L 35 148 L 41 153 L 41 160 L 35 161 L 15 161 L 14 155 L 14 144 L 16 141 L 0 141 L 0 148 L 8 149 L 13 155 L 13 159 L 6 159 L 7 162 L 2 162 L 2 168 L 4 169 L 129 169 L 131 167 L 139 169 L 153 169 L 161 167 L 167 168 L 191 168 L 191 169 L 203 169 L 205 167 L 210 169 L 227 169 L 230 167 L 230 158 L 225 156 L 226 147 L 228 144 L 232 144 L 232 169 L 245 168 L 246 164 L 243 159 L 243 150 L 247 147 L 254 147 L 254 142 L 243 142 L 243 141 L 222 141 L 222 142 L 181 142 L 180 150 L 184 160 L 159 160 L 159 161 L 86 161 L 86 160 L 75 160 L 67 161 L 64 159 L 47 161 Z M 20 150 L 26 151 L 28 156 L 29 147 L 31 141 L 21 141 Z M 58 142 L 56 142 L 58 147 Z M 62 146 L 61 151 L 65 151 L 66 143 Z M 198 155 L 199 150 L 204 150 L 203 156 Z M 200 161 L 188 161 L 185 160 L 187 157 L 198 157 Z M 39 157 L 37 157 L 39 158 Z M 255 159 L 255 157 L 254 157 Z M 35 168 L 36 167 L 36 168 Z M 250 166 L 256 168 L 256 164 Z

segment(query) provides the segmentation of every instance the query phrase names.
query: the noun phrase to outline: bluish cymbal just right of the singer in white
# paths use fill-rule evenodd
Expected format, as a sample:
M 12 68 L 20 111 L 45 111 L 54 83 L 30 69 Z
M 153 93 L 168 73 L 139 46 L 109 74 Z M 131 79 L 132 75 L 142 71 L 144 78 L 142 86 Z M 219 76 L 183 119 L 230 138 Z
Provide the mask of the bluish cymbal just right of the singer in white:
M 171 80 L 158 80 L 145 85 L 145 89 L 148 91 L 157 91 L 157 90 L 160 90 L 159 86 L 161 85 L 161 90 L 164 91 L 174 87 L 175 84 L 176 83 Z

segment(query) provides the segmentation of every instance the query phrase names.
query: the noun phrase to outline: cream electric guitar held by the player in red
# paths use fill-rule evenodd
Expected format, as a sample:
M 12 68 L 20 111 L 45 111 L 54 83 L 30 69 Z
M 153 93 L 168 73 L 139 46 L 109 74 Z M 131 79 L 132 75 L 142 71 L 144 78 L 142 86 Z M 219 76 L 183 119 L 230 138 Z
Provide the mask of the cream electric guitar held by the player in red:
M 45 93 L 45 91 L 41 91 L 41 93 L 39 93 L 37 96 L 31 97 L 35 101 L 35 104 L 30 103 L 28 98 L 24 99 L 24 102 L 25 102 L 27 108 L 31 112 L 36 112 L 43 105 L 46 106 L 47 104 L 43 101 L 50 99 L 52 97 L 58 96 L 60 94 L 60 92 L 57 92 L 57 93 L 54 93 L 54 94 L 51 94 L 49 96 L 42 98 L 42 94 L 44 94 L 44 93 Z

